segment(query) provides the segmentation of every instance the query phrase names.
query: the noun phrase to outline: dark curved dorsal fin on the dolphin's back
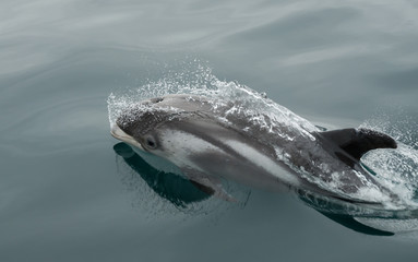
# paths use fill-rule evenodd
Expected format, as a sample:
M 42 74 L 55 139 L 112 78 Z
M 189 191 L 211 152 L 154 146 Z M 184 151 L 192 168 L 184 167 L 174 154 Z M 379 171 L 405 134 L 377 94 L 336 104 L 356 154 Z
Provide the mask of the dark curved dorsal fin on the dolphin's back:
M 377 148 L 396 148 L 397 144 L 387 134 L 370 129 L 339 129 L 320 134 L 360 160 L 367 152 Z

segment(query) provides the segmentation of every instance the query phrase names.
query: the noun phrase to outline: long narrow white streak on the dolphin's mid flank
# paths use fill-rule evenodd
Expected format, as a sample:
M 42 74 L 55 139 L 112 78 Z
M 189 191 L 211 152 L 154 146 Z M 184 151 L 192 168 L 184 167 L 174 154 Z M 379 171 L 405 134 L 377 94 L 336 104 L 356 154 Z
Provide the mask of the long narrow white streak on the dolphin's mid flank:
M 299 180 L 297 178 L 289 175 L 280 165 L 272 160 L 268 156 L 260 153 L 254 147 L 232 140 L 226 141 L 225 143 L 238 154 L 250 160 L 253 165 L 261 167 L 268 174 L 272 174 L 273 176 L 279 178 L 280 180 L 289 184 L 299 184 Z

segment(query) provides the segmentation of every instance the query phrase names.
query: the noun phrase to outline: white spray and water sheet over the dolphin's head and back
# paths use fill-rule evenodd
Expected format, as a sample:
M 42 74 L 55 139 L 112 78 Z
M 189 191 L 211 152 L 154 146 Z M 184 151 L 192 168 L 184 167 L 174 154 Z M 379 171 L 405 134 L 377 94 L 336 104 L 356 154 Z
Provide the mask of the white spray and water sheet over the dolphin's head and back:
M 265 93 L 258 93 L 234 81 L 222 81 L 212 73 L 210 67 L 202 66 L 198 60 L 184 66 L 183 70 L 169 71 L 160 80 L 150 81 L 136 88 L 111 93 L 107 102 L 109 123 L 115 123 L 127 109 L 141 106 L 141 100 L 170 94 L 190 94 L 205 96 L 220 119 L 226 120 L 229 116 L 240 114 L 249 119 L 252 126 L 284 136 L 287 134 L 282 133 L 277 127 L 286 123 L 288 128 L 298 130 L 299 134 L 314 140 L 310 132 L 318 131 L 315 126 L 268 99 Z M 228 107 L 228 110 L 218 110 L 225 107 Z

